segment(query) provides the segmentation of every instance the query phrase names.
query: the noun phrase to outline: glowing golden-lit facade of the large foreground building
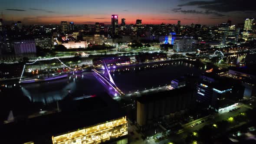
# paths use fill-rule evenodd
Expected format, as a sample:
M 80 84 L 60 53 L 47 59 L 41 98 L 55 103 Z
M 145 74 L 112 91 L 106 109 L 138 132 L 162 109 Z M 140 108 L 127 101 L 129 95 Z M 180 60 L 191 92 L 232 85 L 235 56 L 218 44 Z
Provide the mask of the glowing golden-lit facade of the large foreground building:
M 126 116 L 101 124 L 53 136 L 53 144 L 99 144 L 128 134 Z

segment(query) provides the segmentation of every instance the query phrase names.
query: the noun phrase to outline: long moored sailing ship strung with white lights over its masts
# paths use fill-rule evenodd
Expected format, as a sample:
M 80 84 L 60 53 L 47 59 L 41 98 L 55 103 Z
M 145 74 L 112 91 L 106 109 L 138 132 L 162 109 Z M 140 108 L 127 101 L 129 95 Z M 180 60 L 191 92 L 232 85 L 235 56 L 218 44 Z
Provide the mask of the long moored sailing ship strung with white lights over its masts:
M 21 79 L 19 83 L 33 83 L 33 82 L 45 82 L 54 79 L 62 79 L 66 78 L 68 74 L 59 74 L 59 75 L 52 75 L 52 76 L 44 76 L 44 77 L 37 77 L 37 78 L 26 78 Z

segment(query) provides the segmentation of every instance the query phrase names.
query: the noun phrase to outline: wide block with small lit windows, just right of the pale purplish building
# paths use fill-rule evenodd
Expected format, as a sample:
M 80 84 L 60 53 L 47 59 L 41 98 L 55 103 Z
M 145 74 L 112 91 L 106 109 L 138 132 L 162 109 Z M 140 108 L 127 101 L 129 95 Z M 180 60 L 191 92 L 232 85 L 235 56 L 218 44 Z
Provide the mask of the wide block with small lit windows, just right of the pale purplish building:
M 52 49 L 53 40 L 48 36 L 38 36 L 35 38 L 36 46 L 39 46 L 41 49 Z

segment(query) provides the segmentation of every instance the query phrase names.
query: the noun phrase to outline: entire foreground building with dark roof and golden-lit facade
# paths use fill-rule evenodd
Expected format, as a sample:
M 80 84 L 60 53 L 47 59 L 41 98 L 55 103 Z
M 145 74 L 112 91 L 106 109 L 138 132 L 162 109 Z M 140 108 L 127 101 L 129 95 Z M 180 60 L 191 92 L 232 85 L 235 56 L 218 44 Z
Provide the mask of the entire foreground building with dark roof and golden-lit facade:
M 105 99 L 62 101 L 60 112 L 4 124 L 2 137 L 9 144 L 99 144 L 125 138 L 125 114 L 112 98 Z M 127 139 L 122 143 L 127 144 Z

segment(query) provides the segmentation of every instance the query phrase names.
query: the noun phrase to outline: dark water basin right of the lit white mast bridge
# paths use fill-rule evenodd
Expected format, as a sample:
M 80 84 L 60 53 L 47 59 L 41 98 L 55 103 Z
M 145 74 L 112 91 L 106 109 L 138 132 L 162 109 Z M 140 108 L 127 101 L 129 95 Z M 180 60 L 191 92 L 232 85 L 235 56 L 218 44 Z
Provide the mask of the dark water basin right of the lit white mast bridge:
M 111 72 L 112 78 L 119 89 L 124 93 L 136 92 L 170 85 L 171 80 L 182 75 L 200 75 L 202 68 L 196 68 L 187 62 L 171 62 L 169 64 L 143 65 L 117 69 Z M 203 68 L 204 69 L 204 68 Z

